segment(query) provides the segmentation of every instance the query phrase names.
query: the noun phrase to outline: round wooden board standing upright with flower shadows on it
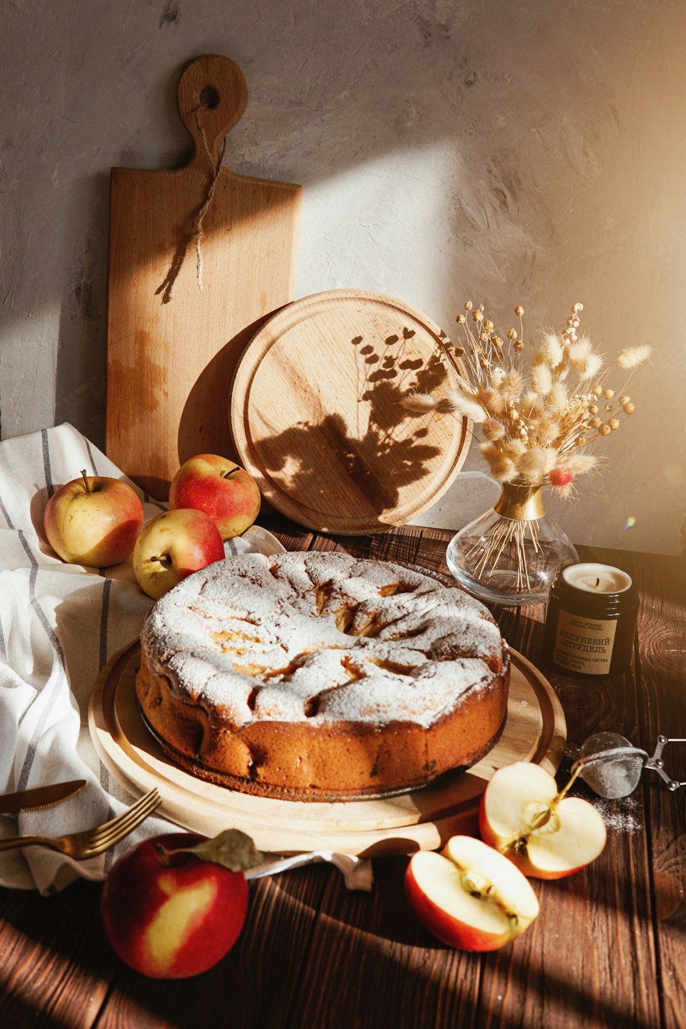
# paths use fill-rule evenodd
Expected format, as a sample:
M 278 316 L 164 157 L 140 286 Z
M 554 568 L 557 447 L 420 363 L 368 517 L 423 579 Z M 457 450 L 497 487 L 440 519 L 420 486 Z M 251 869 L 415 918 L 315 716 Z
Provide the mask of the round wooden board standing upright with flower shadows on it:
M 283 514 L 344 535 L 403 525 L 455 480 L 468 422 L 408 415 L 411 390 L 445 396 L 445 333 L 381 293 L 338 289 L 289 304 L 248 344 L 231 384 L 242 464 Z

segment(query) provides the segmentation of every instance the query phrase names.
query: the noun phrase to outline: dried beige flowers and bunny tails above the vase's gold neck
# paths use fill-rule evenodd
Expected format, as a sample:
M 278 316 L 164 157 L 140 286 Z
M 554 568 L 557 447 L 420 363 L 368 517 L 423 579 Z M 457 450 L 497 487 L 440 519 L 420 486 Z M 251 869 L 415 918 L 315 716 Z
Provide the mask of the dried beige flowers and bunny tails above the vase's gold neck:
M 436 400 L 411 393 L 401 401 L 409 412 L 432 407 L 454 412 L 478 424 L 483 441 L 479 450 L 500 483 L 529 486 L 549 483 L 568 495 L 577 475 L 590 471 L 598 457 L 587 445 L 609 436 L 635 404 L 625 392 L 631 371 L 652 353 L 643 345 L 622 350 L 606 365 L 590 340 L 577 333 L 582 304 L 575 304 L 561 333 L 545 332 L 530 347 L 525 366 L 523 308 L 514 309 L 519 330 L 498 335 L 484 316 L 483 305 L 458 315 L 465 346 L 441 341 L 454 380 L 447 396 Z M 476 330 L 467 320 L 471 313 Z M 629 372 L 619 396 L 607 386 L 613 365 Z

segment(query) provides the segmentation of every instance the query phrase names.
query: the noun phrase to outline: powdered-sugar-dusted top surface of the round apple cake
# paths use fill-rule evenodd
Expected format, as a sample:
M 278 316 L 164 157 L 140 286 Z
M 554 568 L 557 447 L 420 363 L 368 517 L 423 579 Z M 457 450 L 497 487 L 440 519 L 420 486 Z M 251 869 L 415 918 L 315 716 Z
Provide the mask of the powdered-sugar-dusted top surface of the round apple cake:
M 458 590 L 345 554 L 243 555 L 153 607 L 152 671 L 238 725 L 256 719 L 424 726 L 499 672 L 488 609 Z

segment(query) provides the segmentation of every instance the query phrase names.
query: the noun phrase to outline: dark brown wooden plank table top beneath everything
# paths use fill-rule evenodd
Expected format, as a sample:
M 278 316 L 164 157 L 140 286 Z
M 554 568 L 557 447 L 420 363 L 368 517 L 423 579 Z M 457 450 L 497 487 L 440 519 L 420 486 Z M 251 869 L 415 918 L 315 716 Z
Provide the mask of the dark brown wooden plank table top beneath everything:
M 446 532 L 331 537 L 283 520 L 262 524 L 289 549 L 336 548 L 446 571 Z M 624 568 L 639 587 L 630 671 L 598 680 L 562 674 L 542 658 L 543 605 L 494 609 L 510 645 L 562 701 L 561 783 L 594 732 L 619 732 L 649 753 L 659 733 L 686 736 L 685 562 L 579 551 Z M 670 774 L 686 779 L 686 745 L 667 746 L 664 756 Z M 685 801 L 686 787 L 671 793 L 651 772 L 624 800 L 595 799 L 608 826 L 603 854 L 568 879 L 533 881 L 537 921 L 483 955 L 452 950 L 417 922 L 403 895 L 404 857 L 374 859 L 371 893 L 347 891 L 328 865 L 252 883 L 233 950 L 205 974 L 172 982 L 144 979 L 114 956 L 98 884 L 50 898 L 0 890 L 0 1026 L 684 1026 Z

